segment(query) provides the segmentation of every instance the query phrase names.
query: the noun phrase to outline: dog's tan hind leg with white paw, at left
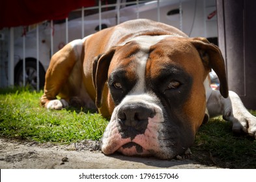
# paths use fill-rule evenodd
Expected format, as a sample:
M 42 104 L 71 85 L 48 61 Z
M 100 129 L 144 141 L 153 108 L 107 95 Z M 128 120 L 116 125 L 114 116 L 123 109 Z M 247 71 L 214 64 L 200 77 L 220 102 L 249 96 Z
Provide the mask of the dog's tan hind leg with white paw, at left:
M 76 84 L 78 79 L 74 75 L 72 77 L 72 73 L 75 72 L 76 75 L 81 75 L 79 69 L 81 69 L 82 50 L 83 40 L 74 40 L 51 57 L 50 66 L 46 72 L 44 94 L 40 99 L 43 107 L 63 109 L 68 106 L 68 101 L 74 96 L 77 90 L 76 86 L 78 86 Z M 77 63 L 79 66 L 75 66 Z M 61 96 L 62 99 L 57 99 L 57 95 Z

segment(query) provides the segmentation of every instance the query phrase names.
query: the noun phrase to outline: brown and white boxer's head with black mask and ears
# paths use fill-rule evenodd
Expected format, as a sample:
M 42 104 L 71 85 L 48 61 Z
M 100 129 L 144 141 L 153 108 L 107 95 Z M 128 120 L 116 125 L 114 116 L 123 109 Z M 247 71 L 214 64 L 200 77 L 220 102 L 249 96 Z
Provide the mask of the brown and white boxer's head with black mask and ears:
M 161 159 L 184 153 L 205 118 L 211 69 L 227 98 L 223 58 L 205 38 L 139 36 L 100 55 L 92 73 L 96 106 L 106 101 L 112 113 L 102 151 Z

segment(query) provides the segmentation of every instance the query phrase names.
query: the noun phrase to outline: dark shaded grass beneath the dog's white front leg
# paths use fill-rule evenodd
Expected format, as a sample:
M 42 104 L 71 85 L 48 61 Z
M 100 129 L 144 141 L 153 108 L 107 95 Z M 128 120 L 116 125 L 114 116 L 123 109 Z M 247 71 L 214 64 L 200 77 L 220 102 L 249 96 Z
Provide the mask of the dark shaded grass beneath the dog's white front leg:
M 256 168 L 256 141 L 246 135 L 233 135 L 232 123 L 221 118 L 214 118 L 200 127 L 191 150 L 194 159 L 201 164 Z

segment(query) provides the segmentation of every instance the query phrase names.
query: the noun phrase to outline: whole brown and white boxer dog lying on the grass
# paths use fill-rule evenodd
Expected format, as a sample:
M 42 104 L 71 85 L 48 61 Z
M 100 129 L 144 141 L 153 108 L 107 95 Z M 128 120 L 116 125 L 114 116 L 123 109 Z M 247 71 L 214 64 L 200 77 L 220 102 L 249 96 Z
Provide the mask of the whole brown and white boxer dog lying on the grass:
M 210 88 L 211 69 L 220 92 Z M 235 132 L 256 132 L 256 118 L 228 91 L 218 47 L 146 19 L 74 40 L 55 53 L 41 103 L 48 109 L 96 103 L 111 118 L 102 137 L 106 154 L 171 159 L 192 146 L 209 116 L 223 115 Z

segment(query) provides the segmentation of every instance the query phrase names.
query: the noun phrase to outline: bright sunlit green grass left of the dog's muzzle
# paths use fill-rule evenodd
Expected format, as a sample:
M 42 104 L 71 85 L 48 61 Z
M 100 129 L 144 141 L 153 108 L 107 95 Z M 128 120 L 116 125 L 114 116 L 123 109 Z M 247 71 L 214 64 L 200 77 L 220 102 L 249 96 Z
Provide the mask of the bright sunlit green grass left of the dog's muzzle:
M 42 91 L 27 88 L 1 90 L 0 136 L 59 143 L 102 137 L 107 120 L 100 114 L 72 107 L 47 110 L 40 107 L 41 96 Z

